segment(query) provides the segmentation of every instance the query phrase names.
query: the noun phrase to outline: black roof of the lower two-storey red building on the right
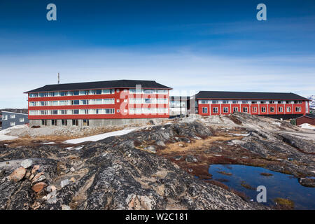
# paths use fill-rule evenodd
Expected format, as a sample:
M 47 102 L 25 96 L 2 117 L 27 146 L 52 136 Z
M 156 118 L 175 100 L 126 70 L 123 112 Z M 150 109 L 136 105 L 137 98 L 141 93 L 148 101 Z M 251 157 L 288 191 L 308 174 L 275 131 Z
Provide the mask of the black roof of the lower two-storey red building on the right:
M 301 99 L 309 100 L 292 92 L 224 92 L 200 91 L 196 99 Z

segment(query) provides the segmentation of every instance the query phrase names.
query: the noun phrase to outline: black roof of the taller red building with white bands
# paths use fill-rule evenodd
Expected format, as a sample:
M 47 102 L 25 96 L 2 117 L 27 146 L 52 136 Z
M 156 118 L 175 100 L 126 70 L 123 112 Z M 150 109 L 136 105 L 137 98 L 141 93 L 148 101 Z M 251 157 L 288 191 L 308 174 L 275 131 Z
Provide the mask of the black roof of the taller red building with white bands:
M 167 87 L 160 83 L 156 83 L 152 80 L 109 80 L 99 82 L 88 82 L 88 83 L 66 83 L 66 84 L 55 84 L 45 85 L 35 90 L 29 90 L 29 92 L 50 92 L 50 91 L 62 91 L 62 90 L 92 90 L 112 87 L 131 87 L 135 88 L 136 85 L 141 85 L 142 88 L 156 88 L 156 89 L 167 89 L 172 90 L 171 87 Z

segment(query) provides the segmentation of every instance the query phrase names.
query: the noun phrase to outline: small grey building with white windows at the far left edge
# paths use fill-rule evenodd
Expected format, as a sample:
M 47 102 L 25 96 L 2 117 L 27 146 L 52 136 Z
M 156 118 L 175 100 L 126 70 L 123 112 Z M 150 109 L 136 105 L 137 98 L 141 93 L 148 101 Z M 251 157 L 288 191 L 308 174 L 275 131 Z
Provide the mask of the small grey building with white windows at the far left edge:
M 29 123 L 26 113 L 15 113 L 2 111 L 2 130 L 7 129 L 8 127 L 13 127 L 16 125 L 25 125 Z

